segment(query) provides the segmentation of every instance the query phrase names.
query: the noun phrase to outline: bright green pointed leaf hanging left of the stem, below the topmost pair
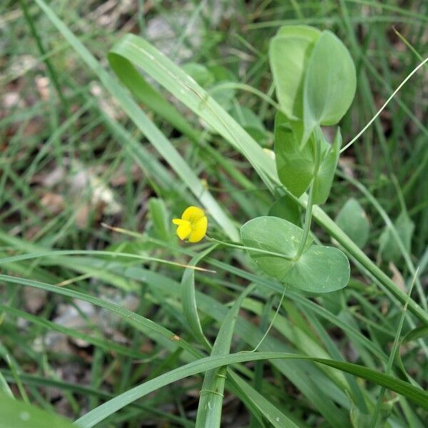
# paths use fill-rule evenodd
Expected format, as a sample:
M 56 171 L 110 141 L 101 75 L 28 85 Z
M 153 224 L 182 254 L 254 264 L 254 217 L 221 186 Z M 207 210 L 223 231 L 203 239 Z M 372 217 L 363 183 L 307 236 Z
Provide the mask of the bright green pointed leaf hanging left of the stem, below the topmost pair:
M 281 183 L 296 198 L 310 185 L 314 174 L 312 144 L 300 148 L 300 139 L 287 118 L 280 112 L 275 116 L 275 161 Z

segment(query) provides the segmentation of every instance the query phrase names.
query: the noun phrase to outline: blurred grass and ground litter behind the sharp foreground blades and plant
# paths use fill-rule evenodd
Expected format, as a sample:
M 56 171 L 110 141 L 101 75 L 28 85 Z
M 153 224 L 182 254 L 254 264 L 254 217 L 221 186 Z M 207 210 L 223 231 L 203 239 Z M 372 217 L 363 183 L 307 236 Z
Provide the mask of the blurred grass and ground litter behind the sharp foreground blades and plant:
M 272 148 L 275 109 L 255 93 L 246 91 L 242 84 L 273 96 L 267 47 L 279 26 L 310 24 L 330 29 L 350 49 L 357 67 L 358 85 L 355 101 L 341 124 L 345 143 L 417 66 L 419 56 L 427 56 L 426 1 L 56 0 L 49 4 L 106 68 L 108 49 L 121 35 L 132 32 L 151 41 L 213 93 L 263 148 Z M 359 200 L 370 221 L 365 253 L 377 260 L 400 287 L 408 282 L 409 265 L 399 255 L 391 255 L 391 251 L 394 253 L 391 245 L 382 250 L 379 243 L 382 243 L 384 220 L 367 194 L 350 180 L 364 185 L 392 221 L 398 218 L 397 230 L 407 243 L 412 263 L 422 265 L 422 287 L 426 287 L 427 277 L 423 274 L 428 263 L 427 76 L 427 68 L 417 73 L 373 126 L 344 153 L 340 159 L 341 172 L 325 205 L 327 213 L 335 217 L 349 198 Z M 174 99 L 170 101 L 178 106 Z M 275 200 L 243 156 L 210 133 L 182 106 L 178 108 L 193 123 L 201 136 L 200 143 L 190 141 L 170 123 L 154 115 L 151 106 L 141 107 L 238 225 L 257 215 L 267 215 Z M 165 176 L 148 173 L 144 165 L 141 168 L 126 148 L 126 138 L 143 145 Z M 102 228 L 101 222 L 166 242 L 173 240 L 175 238 L 168 238 L 173 235 L 169 219 L 179 216 L 188 205 L 185 188 L 41 10 L 26 0 L 4 0 L 0 5 L 0 156 L 3 255 L 36 248 L 119 248 L 170 257 L 168 250 L 156 245 L 128 243 L 123 236 Z M 155 221 L 158 210 L 163 213 L 163 224 Z M 403 212 L 408 216 L 399 218 Z M 321 230 L 317 232 L 320 239 L 328 239 Z M 242 262 L 243 255 L 226 251 L 217 254 L 230 265 Z M 92 269 L 102 270 L 102 266 L 94 266 Z M 172 280 L 179 281 L 182 273 L 156 264 L 146 267 Z M 111 277 L 101 277 L 99 272 L 94 276 L 88 268 L 41 260 L 10 264 L 7 272 L 51 284 L 66 281 L 76 290 L 89 289 L 98 296 L 154 317 L 163 325 L 182 325 L 180 305 L 174 301 L 164 305 L 163 297 L 156 295 L 153 288 L 148 289 L 144 280 L 140 284 L 136 279 L 138 286 L 130 280 L 115 282 Z M 215 279 L 197 277 L 201 287 L 220 301 L 227 295 L 235 295 L 233 290 L 245 284 L 228 272 L 220 273 Z M 362 300 L 356 297 L 355 290 L 370 282 L 357 272 L 354 280 L 358 281 L 354 290 L 345 292 L 342 303 L 332 300 L 329 307 L 329 297 L 320 301 L 332 312 L 336 312 L 337 305 L 342 310 L 346 307 L 345 312 L 352 315 L 355 327 L 387 349 L 391 332 L 392 339 L 394 337 L 394 324 L 390 326 L 386 321 L 397 320 L 399 314 L 391 309 L 388 299 L 374 291 L 370 294 L 367 290 L 372 289 L 367 287 L 362 292 Z M 118 290 L 119 283 L 124 290 Z M 111 287 L 112 284 L 116 287 Z M 146 378 L 152 370 L 161 372 L 176 365 L 178 355 L 172 354 L 163 361 L 164 351 L 159 342 L 137 337 L 136 332 L 118 325 L 117 320 L 113 321 L 102 311 L 96 312 L 89 304 L 59 296 L 49 298 L 44 292 L 6 285 L 0 285 L 0 292 L 5 303 L 39 319 L 54 320 L 87 332 L 102 332 L 104 337 L 147 355 L 147 362 L 134 372 L 130 357 L 111 355 L 83 339 L 49 336 L 40 325 L 4 314 L 0 327 L 4 349 L 0 355 L 14 356 L 12 364 L 19 367 L 17 370 L 22 373 L 28 393 L 43 407 L 77 417 L 83 409 L 96 406 L 103 398 L 101 390 L 117 393 Z M 370 322 L 374 325 L 379 322 L 379 313 L 386 317 L 383 327 L 389 336 L 383 334 L 387 337 L 382 337 L 382 330 L 379 332 L 370 326 Z M 14 322 L 16 319 L 21 320 L 21 324 Z M 260 321 L 254 314 L 251 319 Z M 204 322 L 208 332 L 215 332 L 215 321 L 211 317 L 206 315 Z M 331 325 L 327 323 L 325 327 L 328 329 Z M 358 352 L 353 349 L 352 341 L 335 328 L 329 331 L 333 337 L 337 333 L 337 347 L 347 358 L 357 360 Z M 21 337 L 19 343 L 16 335 Z M 5 361 L 1 365 L 8 366 L 6 371 L 11 370 Z M 426 361 L 421 361 L 420 355 L 414 352 L 406 364 L 415 367 L 412 375 L 426 387 Z M 51 374 L 53 379 L 59 379 L 59 387 L 49 392 L 37 389 L 31 373 L 39 377 Z M 271 375 L 274 379 L 275 375 L 279 376 L 275 371 Z M 67 392 L 66 382 L 90 384 L 97 393 L 88 401 L 83 392 Z M 150 409 L 146 404 L 131 409 L 123 419 L 129 419 L 132 412 L 148 412 L 148 425 L 156 425 L 159 420 L 156 409 L 162 409 L 178 415 L 179 420 L 171 424 L 185 426 L 193 417 L 199 384 L 200 379 L 189 379 L 171 387 L 173 399 L 171 391 L 161 389 Z M 282 384 L 281 388 L 291 396 L 298 396 L 292 384 Z M 278 391 L 274 390 L 275 394 L 278 395 Z M 225 426 L 245 426 L 237 419 L 243 410 L 237 413 L 235 406 L 230 396 L 225 402 Z M 299 404 L 296 413 L 309 425 L 322 423 L 310 403 Z M 117 415 L 113 423 L 122 422 L 121 415 Z

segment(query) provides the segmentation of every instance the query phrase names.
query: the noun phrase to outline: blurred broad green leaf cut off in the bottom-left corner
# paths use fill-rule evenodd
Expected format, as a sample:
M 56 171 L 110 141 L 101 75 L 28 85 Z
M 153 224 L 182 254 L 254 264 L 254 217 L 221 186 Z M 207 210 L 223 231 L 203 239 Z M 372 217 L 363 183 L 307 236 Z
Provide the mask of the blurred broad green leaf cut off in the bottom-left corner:
M 0 392 L 0 428 L 73 428 L 71 421 Z

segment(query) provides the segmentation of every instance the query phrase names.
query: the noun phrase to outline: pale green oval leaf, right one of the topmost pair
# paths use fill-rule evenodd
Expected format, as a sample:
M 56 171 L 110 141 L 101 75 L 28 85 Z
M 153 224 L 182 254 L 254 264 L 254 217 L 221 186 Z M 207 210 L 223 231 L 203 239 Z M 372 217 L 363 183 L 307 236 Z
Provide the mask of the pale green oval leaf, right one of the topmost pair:
M 330 31 L 317 39 L 303 85 L 304 141 L 317 125 L 335 125 L 350 108 L 357 77 L 346 46 Z

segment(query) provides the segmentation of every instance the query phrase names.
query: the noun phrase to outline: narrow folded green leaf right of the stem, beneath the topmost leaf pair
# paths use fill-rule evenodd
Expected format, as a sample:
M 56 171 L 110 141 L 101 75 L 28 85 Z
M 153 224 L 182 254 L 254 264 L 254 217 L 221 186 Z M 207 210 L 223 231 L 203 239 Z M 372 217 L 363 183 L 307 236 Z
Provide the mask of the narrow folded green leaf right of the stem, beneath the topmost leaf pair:
M 324 137 L 320 136 L 320 138 L 322 138 L 320 141 L 325 141 Z M 333 141 L 330 151 L 322 159 L 317 173 L 312 196 L 312 201 L 315 205 L 325 203 L 330 194 L 333 179 L 335 178 L 337 161 L 339 161 L 340 146 L 342 146 L 342 136 L 340 135 L 340 130 L 337 129 L 335 141 Z

